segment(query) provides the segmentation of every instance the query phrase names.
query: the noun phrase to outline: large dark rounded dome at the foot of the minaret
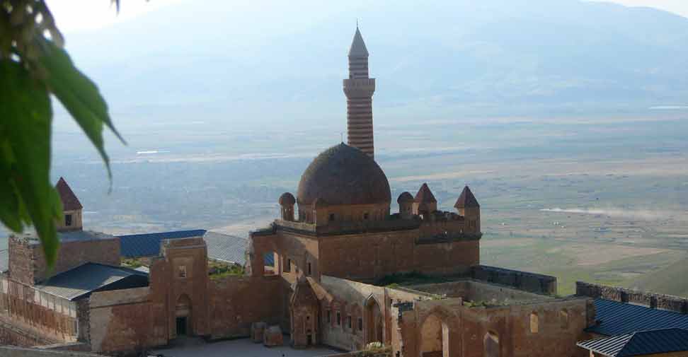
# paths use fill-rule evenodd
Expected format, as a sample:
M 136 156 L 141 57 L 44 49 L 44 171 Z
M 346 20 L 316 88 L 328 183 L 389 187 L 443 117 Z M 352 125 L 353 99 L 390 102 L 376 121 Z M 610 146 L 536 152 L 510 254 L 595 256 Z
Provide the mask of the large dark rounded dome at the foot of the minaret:
M 382 168 L 342 143 L 323 151 L 301 176 L 297 202 L 312 204 L 316 199 L 330 205 L 389 204 L 391 192 Z

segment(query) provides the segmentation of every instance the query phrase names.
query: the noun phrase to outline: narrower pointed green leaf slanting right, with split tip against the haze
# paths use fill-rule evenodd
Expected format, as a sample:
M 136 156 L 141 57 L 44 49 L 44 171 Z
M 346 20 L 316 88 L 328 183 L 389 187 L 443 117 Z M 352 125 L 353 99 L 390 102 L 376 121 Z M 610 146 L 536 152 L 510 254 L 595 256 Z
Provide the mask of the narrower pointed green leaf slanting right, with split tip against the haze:
M 39 62 L 47 71 L 46 83 L 48 88 L 79 123 L 93 146 L 96 146 L 108 168 L 108 177 L 112 178 L 110 160 L 108 154 L 105 153 L 103 124 L 107 125 L 122 143 L 125 141 L 110 119 L 107 103 L 98 91 L 96 84 L 84 76 L 79 69 L 76 69 L 69 58 L 69 54 L 64 49 L 42 38 L 36 41 L 42 49 Z

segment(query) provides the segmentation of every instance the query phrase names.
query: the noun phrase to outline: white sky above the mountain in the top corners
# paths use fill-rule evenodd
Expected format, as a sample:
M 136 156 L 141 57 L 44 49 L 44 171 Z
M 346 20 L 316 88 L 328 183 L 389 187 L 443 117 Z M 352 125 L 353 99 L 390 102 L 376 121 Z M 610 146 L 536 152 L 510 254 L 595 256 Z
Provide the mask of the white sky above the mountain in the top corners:
M 71 33 L 127 21 L 148 11 L 155 11 L 180 1 L 188 0 L 121 0 L 122 8 L 119 16 L 114 6 L 110 6 L 110 0 L 48 0 L 48 5 L 59 28 L 64 33 Z M 612 0 L 607 2 L 659 8 L 688 18 L 688 0 Z

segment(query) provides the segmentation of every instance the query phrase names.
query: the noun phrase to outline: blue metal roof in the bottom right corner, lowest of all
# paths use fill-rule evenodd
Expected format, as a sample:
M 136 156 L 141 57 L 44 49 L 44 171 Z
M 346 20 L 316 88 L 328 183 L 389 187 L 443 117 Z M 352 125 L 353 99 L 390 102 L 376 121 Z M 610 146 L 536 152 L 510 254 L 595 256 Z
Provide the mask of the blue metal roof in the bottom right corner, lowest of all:
M 643 356 L 688 351 L 687 329 L 654 329 L 578 342 L 578 346 L 609 357 Z

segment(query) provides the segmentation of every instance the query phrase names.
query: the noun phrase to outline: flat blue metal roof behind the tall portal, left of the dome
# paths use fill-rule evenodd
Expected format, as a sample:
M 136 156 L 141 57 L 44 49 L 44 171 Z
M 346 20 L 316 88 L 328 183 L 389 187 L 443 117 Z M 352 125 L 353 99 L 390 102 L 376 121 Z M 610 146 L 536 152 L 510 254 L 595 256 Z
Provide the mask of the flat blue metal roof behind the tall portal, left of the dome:
M 120 254 L 127 258 L 156 257 L 160 254 L 162 240 L 202 237 L 203 235 L 205 235 L 205 229 L 120 235 Z

